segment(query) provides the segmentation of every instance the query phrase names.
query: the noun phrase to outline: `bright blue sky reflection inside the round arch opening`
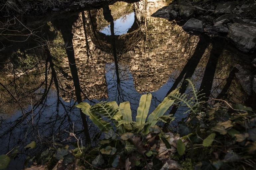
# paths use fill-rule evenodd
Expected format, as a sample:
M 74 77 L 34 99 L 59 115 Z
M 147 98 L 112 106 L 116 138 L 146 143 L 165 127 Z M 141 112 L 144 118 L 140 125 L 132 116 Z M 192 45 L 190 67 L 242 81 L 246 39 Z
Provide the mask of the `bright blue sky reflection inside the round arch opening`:
M 125 16 L 122 16 L 121 18 L 114 21 L 114 32 L 115 35 L 122 35 L 127 33 L 129 28 L 132 27 L 134 23 L 134 12 L 127 14 Z M 110 32 L 110 24 L 103 29 L 100 30 L 101 33 L 106 35 L 111 35 Z

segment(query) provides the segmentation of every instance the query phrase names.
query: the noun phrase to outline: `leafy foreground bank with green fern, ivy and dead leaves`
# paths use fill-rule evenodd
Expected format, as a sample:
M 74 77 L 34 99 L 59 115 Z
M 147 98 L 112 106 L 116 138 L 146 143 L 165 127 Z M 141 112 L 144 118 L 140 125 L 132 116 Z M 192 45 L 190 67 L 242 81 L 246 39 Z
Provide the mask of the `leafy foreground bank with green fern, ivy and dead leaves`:
M 104 125 L 112 124 L 115 127 L 110 126 L 107 130 L 104 128 L 106 126 L 97 125 L 105 129 L 104 138 L 97 139 L 93 147 L 68 151 L 61 148 L 60 153 L 59 149 L 49 150 L 41 157 L 60 155 L 58 158 L 65 160 L 67 155 L 72 154 L 76 156 L 75 162 L 85 169 L 253 169 L 256 162 L 256 114 L 242 105 L 235 105 L 233 109 L 220 104 L 204 107 L 198 92 L 190 81 L 188 83 L 191 84 L 193 97 L 187 99 L 188 96 L 182 96 L 176 89 L 145 122 L 151 98 L 149 94 L 141 98 L 139 123 L 131 120 L 129 102 L 119 107 L 115 102 L 101 102 L 93 106 L 78 104 L 83 113 L 97 118 L 92 119 L 95 125 L 104 118 Z M 177 103 L 174 98 L 182 98 L 177 101 L 190 105 L 187 118 L 172 129 L 156 126 L 157 121 L 169 122 L 174 119 L 173 115 L 163 115 L 173 103 Z M 124 131 L 119 130 L 120 127 Z

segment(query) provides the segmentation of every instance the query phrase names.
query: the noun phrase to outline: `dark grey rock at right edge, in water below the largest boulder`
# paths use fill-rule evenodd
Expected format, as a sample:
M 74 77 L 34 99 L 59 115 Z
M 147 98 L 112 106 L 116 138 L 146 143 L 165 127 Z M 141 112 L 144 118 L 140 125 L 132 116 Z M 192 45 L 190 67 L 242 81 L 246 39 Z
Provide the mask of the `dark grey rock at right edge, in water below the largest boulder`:
M 256 93 L 256 77 L 249 70 L 243 69 L 239 64 L 235 65 L 235 67 L 239 70 L 238 73 L 235 73 L 236 78 L 239 80 L 244 91 L 248 95 L 251 95 L 252 91 Z

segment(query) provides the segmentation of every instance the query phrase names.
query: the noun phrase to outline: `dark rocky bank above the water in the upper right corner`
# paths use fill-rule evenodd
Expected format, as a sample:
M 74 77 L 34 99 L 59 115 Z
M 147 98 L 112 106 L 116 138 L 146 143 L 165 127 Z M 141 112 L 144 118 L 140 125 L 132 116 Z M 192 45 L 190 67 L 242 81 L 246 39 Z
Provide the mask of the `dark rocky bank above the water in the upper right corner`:
M 192 34 L 224 36 L 239 50 L 256 51 L 256 2 L 177 0 L 152 16 L 176 20 Z

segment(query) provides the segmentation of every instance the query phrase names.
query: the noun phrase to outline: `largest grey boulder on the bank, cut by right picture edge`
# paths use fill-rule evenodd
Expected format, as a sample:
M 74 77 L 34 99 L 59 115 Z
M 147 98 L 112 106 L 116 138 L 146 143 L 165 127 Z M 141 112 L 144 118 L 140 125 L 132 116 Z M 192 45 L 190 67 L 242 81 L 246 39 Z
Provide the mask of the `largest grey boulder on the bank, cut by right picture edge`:
M 256 50 L 256 25 L 234 23 L 229 28 L 227 38 L 243 52 Z

